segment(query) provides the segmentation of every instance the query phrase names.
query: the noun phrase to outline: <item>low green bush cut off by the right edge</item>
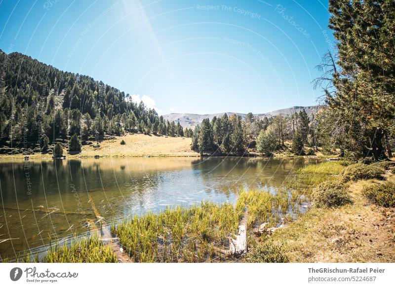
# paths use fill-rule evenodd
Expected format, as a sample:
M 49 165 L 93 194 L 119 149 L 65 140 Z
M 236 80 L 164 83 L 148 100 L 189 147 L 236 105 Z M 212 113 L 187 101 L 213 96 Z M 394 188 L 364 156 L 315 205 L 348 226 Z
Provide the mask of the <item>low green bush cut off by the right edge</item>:
M 362 194 L 377 205 L 395 207 L 395 183 L 371 184 L 362 189 Z

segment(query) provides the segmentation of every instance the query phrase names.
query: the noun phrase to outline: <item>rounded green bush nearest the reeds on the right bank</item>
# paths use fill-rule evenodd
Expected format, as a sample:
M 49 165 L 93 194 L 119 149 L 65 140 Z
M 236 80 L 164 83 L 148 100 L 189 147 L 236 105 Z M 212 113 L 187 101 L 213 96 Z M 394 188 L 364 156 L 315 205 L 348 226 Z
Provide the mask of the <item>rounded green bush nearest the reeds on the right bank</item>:
M 353 202 L 345 184 L 336 180 L 319 184 L 313 192 L 313 198 L 316 207 L 338 207 Z

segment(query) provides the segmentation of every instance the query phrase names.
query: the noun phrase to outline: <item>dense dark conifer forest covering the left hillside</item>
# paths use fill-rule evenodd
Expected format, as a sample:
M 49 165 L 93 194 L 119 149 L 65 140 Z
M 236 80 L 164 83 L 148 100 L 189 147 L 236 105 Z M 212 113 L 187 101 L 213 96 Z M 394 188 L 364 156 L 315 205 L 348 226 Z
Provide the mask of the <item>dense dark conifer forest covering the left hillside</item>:
M 0 50 L 0 141 L 45 150 L 56 139 L 99 141 L 125 132 L 191 136 L 155 109 L 85 75 L 63 72 L 20 53 Z

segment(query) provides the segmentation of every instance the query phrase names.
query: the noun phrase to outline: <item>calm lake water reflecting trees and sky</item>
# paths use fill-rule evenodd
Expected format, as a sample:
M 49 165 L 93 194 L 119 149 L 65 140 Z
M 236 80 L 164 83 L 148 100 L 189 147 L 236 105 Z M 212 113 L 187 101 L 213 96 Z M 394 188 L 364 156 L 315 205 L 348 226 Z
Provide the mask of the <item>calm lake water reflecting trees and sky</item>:
M 86 158 L 0 161 L 0 256 L 108 228 L 166 206 L 234 203 L 240 188 L 276 192 L 308 159 Z M 0 257 L 0 259 L 1 259 Z

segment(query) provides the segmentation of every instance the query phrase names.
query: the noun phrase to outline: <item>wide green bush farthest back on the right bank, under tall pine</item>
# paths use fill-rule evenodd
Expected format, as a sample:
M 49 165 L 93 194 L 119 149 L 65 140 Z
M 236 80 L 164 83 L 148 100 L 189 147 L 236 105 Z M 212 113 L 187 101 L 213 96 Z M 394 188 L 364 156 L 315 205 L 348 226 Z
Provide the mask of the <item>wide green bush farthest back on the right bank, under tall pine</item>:
M 340 176 L 340 180 L 347 182 L 356 179 L 383 179 L 385 169 L 379 164 L 356 163 L 349 165 Z

